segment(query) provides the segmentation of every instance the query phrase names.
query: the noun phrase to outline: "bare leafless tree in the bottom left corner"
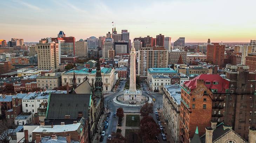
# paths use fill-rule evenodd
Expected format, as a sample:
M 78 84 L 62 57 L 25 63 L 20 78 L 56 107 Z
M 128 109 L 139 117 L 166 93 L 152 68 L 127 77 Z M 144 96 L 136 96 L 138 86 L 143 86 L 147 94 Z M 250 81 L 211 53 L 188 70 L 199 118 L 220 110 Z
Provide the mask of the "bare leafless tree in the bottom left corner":
M 9 143 L 15 128 L 16 125 L 12 120 L 2 120 L 0 122 L 0 142 Z

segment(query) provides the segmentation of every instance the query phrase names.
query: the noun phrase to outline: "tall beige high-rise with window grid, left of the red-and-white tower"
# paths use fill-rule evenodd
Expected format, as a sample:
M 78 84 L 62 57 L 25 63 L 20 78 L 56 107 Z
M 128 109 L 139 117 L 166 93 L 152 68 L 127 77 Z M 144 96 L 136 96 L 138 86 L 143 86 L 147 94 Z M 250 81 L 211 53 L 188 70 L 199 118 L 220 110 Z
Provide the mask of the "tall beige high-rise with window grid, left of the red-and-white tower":
M 39 70 L 53 70 L 59 69 L 59 48 L 55 42 L 46 43 L 40 41 L 36 44 L 38 55 L 38 69 Z

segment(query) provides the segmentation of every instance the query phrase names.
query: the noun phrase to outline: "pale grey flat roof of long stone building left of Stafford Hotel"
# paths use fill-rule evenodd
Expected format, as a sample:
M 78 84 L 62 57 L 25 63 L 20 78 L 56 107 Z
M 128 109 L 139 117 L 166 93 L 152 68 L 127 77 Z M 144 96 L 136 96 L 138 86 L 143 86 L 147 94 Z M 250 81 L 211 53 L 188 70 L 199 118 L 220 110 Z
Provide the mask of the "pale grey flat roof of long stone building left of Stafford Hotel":
M 174 85 L 164 85 L 164 88 L 168 90 L 170 97 L 177 102 L 178 105 L 181 104 L 181 86 L 178 84 Z

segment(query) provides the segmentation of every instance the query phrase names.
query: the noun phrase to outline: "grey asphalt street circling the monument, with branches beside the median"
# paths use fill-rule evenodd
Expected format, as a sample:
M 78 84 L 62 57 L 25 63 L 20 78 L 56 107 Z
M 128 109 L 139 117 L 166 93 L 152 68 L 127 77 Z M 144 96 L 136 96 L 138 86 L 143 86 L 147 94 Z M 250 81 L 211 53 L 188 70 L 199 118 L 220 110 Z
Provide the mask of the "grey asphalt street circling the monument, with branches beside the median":
M 117 118 L 113 118 L 113 115 L 116 112 L 117 108 L 122 107 L 124 111 L 128 111 L 128 110 L 129 111 L 135 111 L 135 112 L 140 111 L 140 106 L 122 106 L 122 105 L 119 105 L 119 104 L 116 104 L 116 103 L 113 102 L 113 99 L 116 96 L 123 94 L 123 89 L 124 89 L 124 85 L 126 83 L 126 80 L 121 81 L 121 83 L 122 84 L 119 85 L 118 88 L 117 88 L 117 90 L 120 89 L 120 91 L 116 91 L 114 93 L 104 95 L 105 107 L 106 108 L 108 107 L 108 112 L 111 112 L 111 116 L 110 116 L 110 119 L 109 119 L 109 125 L 108 125 L 108 129 L 106 130 L 106 135 L 104 137 L 103 143 L 106 143 L 107 142 L 107 136 L 109 134 L 111 134 L 112 131 L 116 130 Z M 120 86 L 121 86 L 121 88 L 119 88 Z M 149 90 L 148 90 L 147 85 L 145 83 L 143 83 L 141 88 L 145 89 L 145 90 L 142 90 L 142 95 L 146 95 L 146 96 L 149 96 L 152 99 L 153 98 L 156 99 L 156 101 L 153 101 L 154 111 L 157 111 L 158 107 L 162 108 L 163 96 L 161 94 L 156 94 L 156 93 L 151 93 L 151 92 L 150 92 L 150 94 L 147 94 L 147 91 L 149 91 Z M 106 116 L 107 116 L 107 113 L 106 113 Z M 153 118 L 156 120 L 156 117 L 154 117 L 154 116 L 153 116 Z M 162 141 L 162 136 L 161 135 L 159 135 L 159 140 L 160 140 L 160 142 Z

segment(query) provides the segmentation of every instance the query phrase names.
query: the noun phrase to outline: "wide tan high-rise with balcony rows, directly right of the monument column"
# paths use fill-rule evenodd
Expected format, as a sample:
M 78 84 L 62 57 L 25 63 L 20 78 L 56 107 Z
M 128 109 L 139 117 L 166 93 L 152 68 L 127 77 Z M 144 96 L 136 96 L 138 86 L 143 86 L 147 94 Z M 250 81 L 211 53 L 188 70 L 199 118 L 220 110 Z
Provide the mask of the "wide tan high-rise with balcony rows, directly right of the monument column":
M 149 68 L 167 68 L 168 51 L 164 47 L 141 48 L 138 53 L 138 74 L 140 77 L 147 77 Z

